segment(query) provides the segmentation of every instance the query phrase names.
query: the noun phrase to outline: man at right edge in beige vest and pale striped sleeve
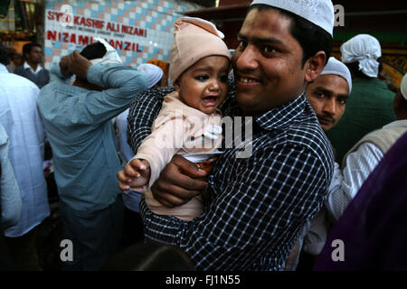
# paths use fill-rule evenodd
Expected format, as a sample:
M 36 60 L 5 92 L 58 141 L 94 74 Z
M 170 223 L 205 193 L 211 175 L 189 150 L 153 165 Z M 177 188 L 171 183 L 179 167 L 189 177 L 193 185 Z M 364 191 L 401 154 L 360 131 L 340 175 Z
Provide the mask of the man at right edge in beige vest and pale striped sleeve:
M 407 74 L 402 79 L 400 91 L 393 99 L 393 110 L 397 120 L 364 135 L 345 154 L 342 172 L 335 163 L 333 181 L 325 201 L 325 207 L 335 222 L 344 214 L 384 154 L 407 131 Z M 318 255 L 326 239 L 327 223 L 324 222 L 323 213 L 319 213 L 318 217 L 311 221 L 311 228 L 304 238 L 304 251 L 314 256 Z

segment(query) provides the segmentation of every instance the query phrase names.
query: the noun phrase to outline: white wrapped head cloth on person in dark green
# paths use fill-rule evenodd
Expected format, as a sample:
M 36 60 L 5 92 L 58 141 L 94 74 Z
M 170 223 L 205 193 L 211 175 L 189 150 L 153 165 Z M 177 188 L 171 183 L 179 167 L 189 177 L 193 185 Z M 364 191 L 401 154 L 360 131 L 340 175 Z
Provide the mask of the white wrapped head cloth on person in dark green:
M 379 74 L 379 62 L 382 56 L 380 42 L 368 34 L 359 34 L 341 45 L 344 63 L 359 62 L 359 70 L 365 75 L 376 78 Z

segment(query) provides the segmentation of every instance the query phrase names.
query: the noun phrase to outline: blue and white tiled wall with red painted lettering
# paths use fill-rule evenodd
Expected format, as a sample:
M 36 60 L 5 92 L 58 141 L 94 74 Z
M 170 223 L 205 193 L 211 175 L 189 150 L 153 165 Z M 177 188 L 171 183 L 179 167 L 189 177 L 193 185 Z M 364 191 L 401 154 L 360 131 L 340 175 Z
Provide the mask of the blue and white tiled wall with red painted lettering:
M 62 6 L 65 4 L 70 6 Z M 49 69 L 71 51 L 80 51 L 94 37 L 106 39 L 127 65 L 150 59 L 166 61 L 176 18 L 201 8 L 179 0 L 46 1 L 45 67 Z M 62 12 L 72 18 L 64 18 Z

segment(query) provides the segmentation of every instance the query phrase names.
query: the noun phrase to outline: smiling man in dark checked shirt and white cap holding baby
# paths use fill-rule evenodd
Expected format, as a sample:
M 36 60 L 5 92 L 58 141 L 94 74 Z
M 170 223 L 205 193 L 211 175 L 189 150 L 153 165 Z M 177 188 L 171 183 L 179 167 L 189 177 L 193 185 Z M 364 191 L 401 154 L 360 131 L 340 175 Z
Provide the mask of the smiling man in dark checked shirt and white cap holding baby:
M 142 200 L 147 242 L 181 247 L 199 270 L 283 269 L 332 177 L 332 149 L 304 91 L 327 63 L 333 24 L 330 0 L 251 3 L 232 58 L 236 91 L 231 85 L 220 107 L 223 116 L 251 122 L 251 155 L 239 158 L 239 147 L 225 148 L 207 182 L 194 179 L 205 176 L 194 163 L 174 157 L 152 186 L 156 200 L 174 207 L 205 189 L 211 200 L 192 221 L 154 214 Z M 171 89 L 150 90 L 133 102 L 133 151 Z M 136 176 L 127 165 L 118 172 L 120 188 L 128 190 Z

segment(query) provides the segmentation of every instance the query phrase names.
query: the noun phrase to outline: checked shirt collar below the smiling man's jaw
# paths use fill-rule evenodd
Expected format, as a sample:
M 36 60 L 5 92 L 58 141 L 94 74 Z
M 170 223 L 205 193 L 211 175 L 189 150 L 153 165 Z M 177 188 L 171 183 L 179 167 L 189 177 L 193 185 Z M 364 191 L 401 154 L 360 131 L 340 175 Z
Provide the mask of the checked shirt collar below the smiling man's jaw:
M 260 117 L 254 117 L 255 122 L 263 129 L 272 130 L 286 126 L 289 122 L 303 113 L 306 105 L 305 90 L 289 103 L 275 107 Z

